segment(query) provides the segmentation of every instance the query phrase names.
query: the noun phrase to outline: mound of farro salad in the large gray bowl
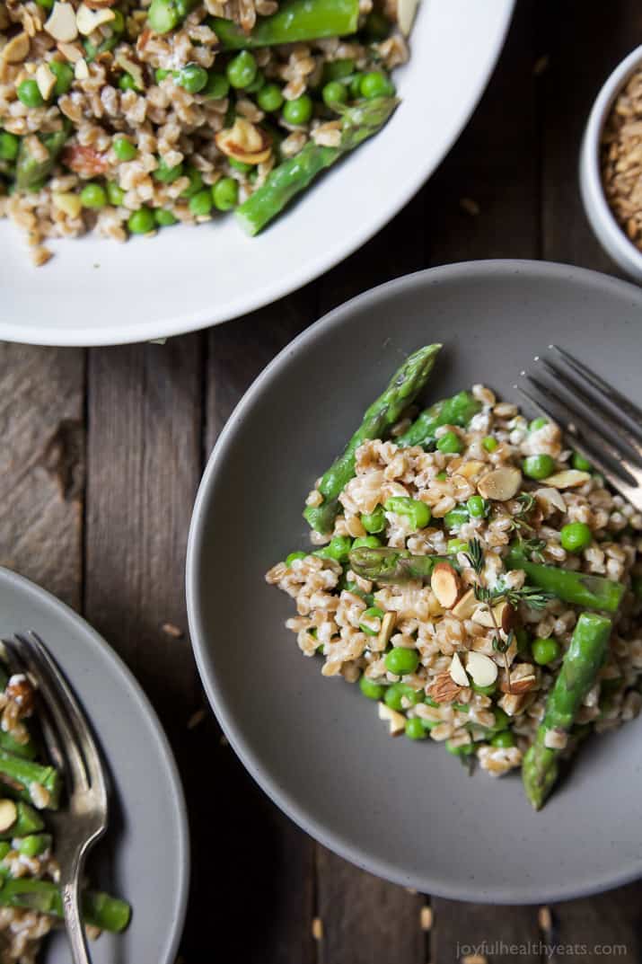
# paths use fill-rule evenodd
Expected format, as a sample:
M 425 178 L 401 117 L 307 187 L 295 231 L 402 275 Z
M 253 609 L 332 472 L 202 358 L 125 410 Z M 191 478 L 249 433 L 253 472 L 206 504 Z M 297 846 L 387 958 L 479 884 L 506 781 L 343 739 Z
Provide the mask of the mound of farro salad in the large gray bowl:
M 474 385 L 418 412 L 415 352 L 317 480 L 315 549 L 266 575 L 321 672 L 540 809 L 560 764 L 642 703 L 642 514 L 557 425 Z

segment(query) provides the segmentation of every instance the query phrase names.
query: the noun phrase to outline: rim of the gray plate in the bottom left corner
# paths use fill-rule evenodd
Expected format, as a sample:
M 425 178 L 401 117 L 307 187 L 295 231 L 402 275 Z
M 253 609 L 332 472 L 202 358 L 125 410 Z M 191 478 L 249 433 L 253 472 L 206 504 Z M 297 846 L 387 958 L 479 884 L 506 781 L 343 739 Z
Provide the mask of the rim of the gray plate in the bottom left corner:
M 133 676 L 131 671 L 125 666 L 123 661 L 120 659 L 114 650 L 109 646 L 109 644 L 100 636 L 95 629 L 93 629 L 90 624 L 79 616 L 73 609 L 69 608 L 66 603 L 62 603 L 59 599 L 53 596 L 51 593 L 42 589 L 31 579 L 27 579 L 25 576 L 19 576 L 17 573 L 13 573 L 9 569 L 0 567 L 0 586 L 4 590 L 5 588 L 15 594 L 17 597 L 26 599 L 36 598 L 43 608 L 50 608 L 55 611 L 56 618 L 60 620 L 61 623 L 67 623 L 69 629 L 69 639 L 77 638 L 81 639 L 83 644 L 87 646 L 88 650 L 94 651 L 101 662 L 106 662 L 109 664 L 110 669 L 113 673 L 113 678 L 119 685 L 120 693 L 130 701 L 136 707 L 137 712 L 146 717 L 147 723 L 149 724 L 148 732 L 152 734 L 155 741 L 155 754 L 157 760 L 164 771 L 164 780 L 167 786 L 167 792 L 169 797 L 173 802 L 175 826 L 173 829 L 173 836 L 175 840 L 175 855 L 176 863 L 172 868 L 172 872 L 175 874 L 175 904 L 173 909 L 172 918 L 168 921 L 167 919 L 161 924 L 168 927 L 167 938 L 165 940 L 165 948 L 162 957 L 158 961 L 154 961 L 153 964 L 174 964 L 175 956 L 178 951 L 178 944 L 182 935 L 183 925 L 185 924 L 185 914 L 187 911 L 187 898 L 189 894 L 189 880 L 190 880 L 190 841 L 189 841 L 189 827 L 187 822 L 187 807 L 185 805 L 185 797 L 183 795 L 182 784 L 180 777 L 178 775 L 178 770 L 176 768 L 176 763 L 174 761 L 174 754 L 170 747 L 165 731 L 160 724 L 155 711 L 153 710 L 149 700 L 140 683 Z M 29 627 L 25 627 L 29 629 Z M 41 629 L 42 635 L 46 639 L 45 630 Z M 54 650 L 55 655 L 55 650 Z M 65 667 L 68 678 L 72 684 L 76 686 L 78 695 L 80 699 L 83 699 L 83 693 L 81 687 L 77 686 L 73 681 L 73 674 L 69 671 L 68 667 Z M 111 681 L 108 681 L 108 683 Z M 106 688 L 105 696 L 109 695 L 109 686 Z M 90 708 L 91 715 L 91 708 Z M 98 734 L 98 736 L 100 736 Z M 133 736 L 132 738 L 136 738 Z M 139 737 L 140 738 L 140 737 Z M 128 748 L 123 746 L 121 748 L 123 754 L 128 752 Z M 112 754 L 109 758 L 109 763 L 114 765 L 115 761 Z M 126 811 L 126 795 L 127 788 L 120 786 L 120 798 L 121 806 Z M 166 828 L 167 829 L 167 828 Z M 109 833 L 109 831 L 108 831 Z M 126 883 L 126 882 L 125 882 Z M 153 886 L 153 882 L 149 881 L 148 885 Z M 136 915 L 136 906 L 133 905 L 133 917 Z M 150 925 L 152 922 L 149 921 Z M 155 922 L 158 926 L 158 922 Z M 94 953 L 96 950 L 94 949 Z M 49 959 L 49 954 L 43 955 L 42 960 Z M 120 959 L 120 956 L 119 956 Z M 39 957 L 40 960 L 40 957 Z M 124 961 L 122 961 L 124 964 Z M 131 964 L 142 964 L 140 961 L 132 961 Z

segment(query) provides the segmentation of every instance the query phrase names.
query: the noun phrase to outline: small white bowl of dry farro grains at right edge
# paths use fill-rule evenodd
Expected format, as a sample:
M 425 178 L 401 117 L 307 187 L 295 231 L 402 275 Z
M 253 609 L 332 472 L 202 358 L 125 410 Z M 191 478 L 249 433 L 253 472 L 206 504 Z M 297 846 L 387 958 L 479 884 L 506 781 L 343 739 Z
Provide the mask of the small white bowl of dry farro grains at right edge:
M 602 248 L 642 281 L 642 46 L 598 94 L 582 141 L 579 184 Z

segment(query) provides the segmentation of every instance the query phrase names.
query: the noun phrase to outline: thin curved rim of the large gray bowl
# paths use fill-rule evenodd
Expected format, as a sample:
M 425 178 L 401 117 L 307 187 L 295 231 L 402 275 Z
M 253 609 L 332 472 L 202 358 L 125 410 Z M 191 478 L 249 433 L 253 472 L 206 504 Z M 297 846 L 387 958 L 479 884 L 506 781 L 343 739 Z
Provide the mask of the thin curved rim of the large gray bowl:
M 383 295 L 406 291 L 409 288 L 420 286 L 424 281 L 427 281 L 428 284 L 435 285 L 441 281 L 467 279 L 470 274 L 474 275 L 478 273 L 487 280 L 496 278 L 499 283 L 502 279 L 505 279 L 507 275 L 520 275 L 533 279 L 541 279 L 543 276 L 546 276 L 547 279 L 556 281 L 580 281 L 584 282 L 589 289 L 592 286 L 599 286 L 606 289 L 611 288 L 614 291 L 618 291 L 621 295 L 628 292 L 631 304 L 639 306 L 642 310 L 642 293 L 639 288 L 628 281 L 620 281 L 597 271 L 557 262 L 519 258 L 489 258 L 438 266 L 405 275 L 371 288 L 321 317 L 302 332 L 301 335 L 298 335 L 287 344 L 257 376 L 254 383 L 248 388 L 229 416 L 210 454 L 194 505 L 187 547 L 186 596 L 190 636 L 201 674 L 201 681 L 210 705 L 232 749 L 253 776 L 259 787 L 268 794 L 288 817 L 291 817 L 291 819 L 319 843 L 327 846 L 333 850 L 334 853 L 355 864 L 362 870 L 374 873 L 379 877 L 388 879 L 401 886 L 414 886 L 415 889 L 421 890 L 423 893 L 434 894 L 440 897 L 454 900 L 504 904 L 536 904 L 543 900 L 570 900 L 577 897 L 587 897 L 592 894 L 598 894 L 609 888 L 627 884 L 642 875 L 642 864 L 640 864 L 638 870 L 632 870 L 630 872 L 609 873 L 603 876 L 600 876 L 599 873 L 594 873 L 590 881 L 578 880 L 574 886 L 560 887 L 553 883 L 546 894 L 528 885 L 519 888 L 517 891 L 505 886 L 488 888 L 483 895 L 480 895 L 474 886 L 457 884 L 455 887 L 452 887 L 440 878 L 433 877 L 428 871 L 422 872 L 421 880 L 411 879 L 409 874 L 400 872 L 396 866 L 393 866 L 387 860 L 373 857 L 360 847 L 355 846 L 340 832 L 336 832 L 327 824 L 317 821 L 315 817 L 312 817 L 308 813 L 306 808 L 299 805 L 295 796 L 287 790 L 287 788 L 272 778 L 270 772 L 268 772 L 261 763 L 260 757 L 254 753 L 246 741 L 243 733 L 242 720 L 234 719 L 232 712 L 228 710 L 225 691 L 220 686 L 210 664 L 206 645 L 206 631 L 202 621 L 199 574 L 207 499 L 214 479 L 220 473 L 225 473 L 226 471 L 227 445 L 234 436 L 237 426 L 244 419 L 246 409 L 252 406 L 254 400 L 268 384 L 271 384 L 281 377 L 281 369 L 297 354 L 298 349 L 302 345 L 307 344 L 308 341 L 313 341 L 320 333 L 325 333 L 329 329 L 342 325 L 344 321 L 349 319 L 353 309 L 357 307 L 368 308 L 374 306 Z M 525 817 L 528 817 L 528 811 L 526 811 Z

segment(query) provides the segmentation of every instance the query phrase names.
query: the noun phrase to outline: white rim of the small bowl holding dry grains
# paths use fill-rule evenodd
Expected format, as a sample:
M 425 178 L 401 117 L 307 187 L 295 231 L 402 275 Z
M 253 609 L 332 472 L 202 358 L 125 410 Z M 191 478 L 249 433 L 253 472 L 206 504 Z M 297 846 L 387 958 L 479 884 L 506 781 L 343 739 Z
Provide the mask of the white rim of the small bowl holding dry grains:
M 602 245 L 628 271 L 642 276 L 642 252 L 620 227 L 606 201 L 600 171 L 602 130 L 618 94 L 629 77 L 642 67 L 642 44 L 635 47 L 608 75 L 596 97 L 580 150 L 580 191 L 591 226 Z

